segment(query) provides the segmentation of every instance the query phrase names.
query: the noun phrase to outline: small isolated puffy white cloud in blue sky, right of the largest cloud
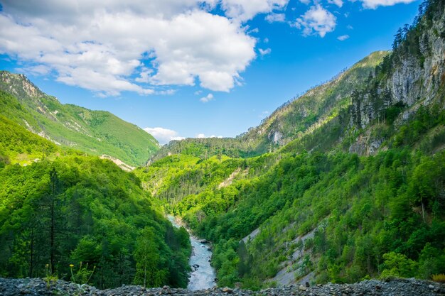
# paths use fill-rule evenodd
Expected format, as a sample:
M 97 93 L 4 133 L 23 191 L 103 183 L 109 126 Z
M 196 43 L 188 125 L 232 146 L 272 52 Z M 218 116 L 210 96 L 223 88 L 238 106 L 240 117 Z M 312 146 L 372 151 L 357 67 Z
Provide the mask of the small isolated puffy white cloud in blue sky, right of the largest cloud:
M 296 19 L 295 26 L 302 28 L 305 36 L 318 34 L 323 38 L 326 33 L 336 28 L 336 16 L 323 9 L 320 4 L 316 4 Z

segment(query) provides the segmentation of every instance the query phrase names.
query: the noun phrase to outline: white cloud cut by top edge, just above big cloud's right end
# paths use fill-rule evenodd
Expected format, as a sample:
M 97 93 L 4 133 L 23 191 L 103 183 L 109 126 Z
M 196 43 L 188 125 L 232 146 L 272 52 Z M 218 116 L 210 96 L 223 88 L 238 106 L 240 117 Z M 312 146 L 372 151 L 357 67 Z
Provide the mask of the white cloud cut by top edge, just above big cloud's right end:
M 248 21 L 259 13 L 282 10 L 289 0 L 221 0 L 225 15 L 235 21 Z

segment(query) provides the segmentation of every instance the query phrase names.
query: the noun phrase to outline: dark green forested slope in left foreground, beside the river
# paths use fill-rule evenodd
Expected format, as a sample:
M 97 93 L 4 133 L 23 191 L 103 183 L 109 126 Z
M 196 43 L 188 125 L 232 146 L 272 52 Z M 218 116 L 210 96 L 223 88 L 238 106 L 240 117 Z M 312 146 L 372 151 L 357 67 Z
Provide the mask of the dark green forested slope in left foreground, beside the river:
M 163 217 L 134 174 L 4 116 L 0 127 L 1 277 L 186 287 L 187 231 Z

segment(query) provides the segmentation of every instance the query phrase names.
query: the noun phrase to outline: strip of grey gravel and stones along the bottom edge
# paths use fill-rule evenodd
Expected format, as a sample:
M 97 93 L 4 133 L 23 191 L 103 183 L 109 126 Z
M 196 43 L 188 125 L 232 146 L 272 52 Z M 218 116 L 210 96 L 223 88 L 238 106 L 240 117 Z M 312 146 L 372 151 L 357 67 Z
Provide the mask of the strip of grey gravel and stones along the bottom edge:
M 0 278 L 0 295 L 184 295 L 184 296 L 265 296 L 265 295 L 292 295 L 292 296 L 436 296 L 445 295 L 445 285 L 415 279 L 397 279 L 382 282 L 380 280 L 365 280 L 355 284 L 327 284 L 306 286 L 275 287 L 261 291 L 250 291 L 230 288 L 214 288 L 210 290 L 190 291 L 186 289 L 173 289 L 167 286 L 158 288 L 144 288 L 141 286 L 124 285 L 115 289 L 98 290 L 90 285 L 58 280 L 50 285 L 40 278 L 6 279 Z

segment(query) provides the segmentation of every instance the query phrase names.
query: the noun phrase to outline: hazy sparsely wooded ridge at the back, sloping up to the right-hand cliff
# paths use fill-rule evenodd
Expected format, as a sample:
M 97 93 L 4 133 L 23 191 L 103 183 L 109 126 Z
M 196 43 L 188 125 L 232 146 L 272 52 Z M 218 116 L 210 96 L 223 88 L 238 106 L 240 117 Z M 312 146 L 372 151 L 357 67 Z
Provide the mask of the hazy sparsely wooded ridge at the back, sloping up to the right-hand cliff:
M 283 104 L 257 127 L 237 138 L 188 138 L 171 141 L 155 153 L 158 160 L 169 153 L 183 153 L 207 158 L 224 154 L 252 157 L 284 146 L 308 130 L 322 126 L 352 104 L 353 89 L 363 87 L 375 66 L 387 52 L 372 53 L 325 84 L 313 87 L 301 97 Z

